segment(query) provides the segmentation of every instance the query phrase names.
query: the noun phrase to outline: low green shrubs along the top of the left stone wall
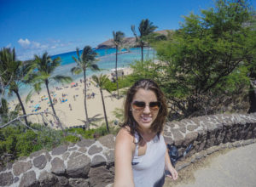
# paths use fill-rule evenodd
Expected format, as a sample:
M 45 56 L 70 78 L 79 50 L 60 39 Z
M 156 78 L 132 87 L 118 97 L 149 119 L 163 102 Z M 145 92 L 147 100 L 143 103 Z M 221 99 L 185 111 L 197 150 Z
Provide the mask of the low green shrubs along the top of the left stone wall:
M 34 151 L 42 149 L 51 150 L 67 142 L 76 143 L 80 139 L 79 135 L 84 139 L 94 139 L 108 134 L 105 125 L 89 130 L 84 130 L 83 128 L 69 128 L 66 130 L 66 137 L 63 136 L 61 130 L 55 130 L 40 124 L 32 124 L 31 127 L 36 131 L 28 130 L 23 125 L 1 128 L 0 157 L 8 153 L 12 154 L 12 158 L 15 160 L 19 156 L 29 156 Z M 114 132 L 113 127 L 110 127 L 110 132 Z M 0 162 L 3 161 L 1 160 Z

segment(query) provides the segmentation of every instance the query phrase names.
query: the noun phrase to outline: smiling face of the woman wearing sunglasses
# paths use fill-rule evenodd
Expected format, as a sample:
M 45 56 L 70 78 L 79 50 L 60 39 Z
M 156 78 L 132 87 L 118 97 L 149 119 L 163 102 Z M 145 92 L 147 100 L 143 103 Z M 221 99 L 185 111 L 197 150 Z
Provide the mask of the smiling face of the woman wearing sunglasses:
M 158 102 L 158 100 L 154 92 L 151 90 L 139 88 L 137 93 L 133 96 L 131 102 L 132 116 L 142 130 L 148 130 L 158 115 L 158 107 L 149 108 L 149 104 L 151 103 L 150 105 L 152 106 L 155 105 L 155 102 Z M 137 107 L 134 104 L 142 106 L 143 103 L 145 104 L 145 108 L 141 107 L 141 110 L 137 110 Z

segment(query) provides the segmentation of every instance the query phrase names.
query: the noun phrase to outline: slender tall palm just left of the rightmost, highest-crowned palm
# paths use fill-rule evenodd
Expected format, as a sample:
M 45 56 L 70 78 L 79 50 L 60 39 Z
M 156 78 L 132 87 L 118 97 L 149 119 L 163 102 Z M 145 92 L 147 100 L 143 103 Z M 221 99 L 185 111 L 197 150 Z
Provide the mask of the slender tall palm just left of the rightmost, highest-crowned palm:
M 116 80 L 116 88 L 118 91 L 118 98 L 119 98 L 119 77 L 117 73 L 117 59 L 118 59 L 118 50 L 119 47 L 123 44 L 123 39 L 125 37 L 125 33 L 122 31 L 113 31 L 113 44 L 115 46 L 115 80 Z

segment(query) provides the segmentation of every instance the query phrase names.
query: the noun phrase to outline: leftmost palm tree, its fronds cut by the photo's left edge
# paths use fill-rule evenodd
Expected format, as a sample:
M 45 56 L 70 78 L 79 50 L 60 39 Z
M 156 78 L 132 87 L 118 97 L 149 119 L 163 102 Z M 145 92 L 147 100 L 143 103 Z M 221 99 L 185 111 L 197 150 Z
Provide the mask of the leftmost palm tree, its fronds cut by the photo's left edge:
M 21 62 L 16 59 L 15 48 L 3 48 L 0 51 L 0 76 L 3 86 L 9 89 L 9 95 L 15 93 L 23 115 L 26 115 L 25 107 L 20 98 L 19 88 L 22 84 L 27 83 L 27 77 L 32 71 L 32 65 L 29 61 Z M 4 90 L 3 90 L 4 91 Z M 24 117 L 26 125 L 29 126 L 26 116 Z

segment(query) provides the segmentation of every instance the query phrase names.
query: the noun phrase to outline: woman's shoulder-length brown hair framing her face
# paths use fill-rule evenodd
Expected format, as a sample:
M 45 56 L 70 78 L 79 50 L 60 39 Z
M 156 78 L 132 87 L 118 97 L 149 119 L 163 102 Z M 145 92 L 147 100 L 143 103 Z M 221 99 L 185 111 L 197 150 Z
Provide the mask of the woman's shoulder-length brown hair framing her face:
M 138 124 L 137 124 L 136 120 L 133 118 L 132 112 L 131 112 L 131 102 L 139 88 L 153 91 L 154 94 L 156 95 L 157 100 L 161 104 L 158 115 L 150 127 L 150 129 L 152 131 L 154 131 L 155 133 L 157 133 L 158 136 L 162 132 L 164 123 L 166 122 L 167 105 L 166 105 L 166 97 L 160 90 L 157 83 L 154 82 L 153 80 L 150 80 L 150 79 L 139 80 L 139 81 L 135 82 L 133 84 L 133 86 L 128 90 L 128 92 L 126 94 L 126 99 L 125 99 L 125 122 L 121 127 L 127 127 L 127 126 L 130 127 L 131 135 L 134 136 L 135 132 L 137 132 L 140 137 L 140 140 L 141 140 L 142 136 L 140 134 Z

